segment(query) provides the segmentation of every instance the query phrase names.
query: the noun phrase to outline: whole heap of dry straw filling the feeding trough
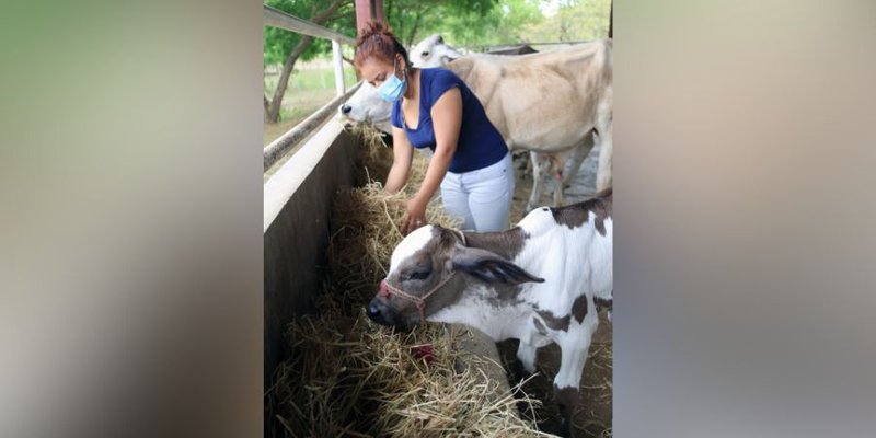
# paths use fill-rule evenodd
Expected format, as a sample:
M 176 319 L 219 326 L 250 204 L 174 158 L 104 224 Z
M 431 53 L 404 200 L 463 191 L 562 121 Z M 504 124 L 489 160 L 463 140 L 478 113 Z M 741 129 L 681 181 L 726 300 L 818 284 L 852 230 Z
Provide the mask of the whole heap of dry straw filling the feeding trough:
M 387 149 L 370 141 L 359 158 L 359 169 L 367 169 L 365 177 L 388 169 L 389 164 L 372 161 L 383 154 L 376 148 Z M 538 402 L 517 389 L 500 393 L 498 388 L 505 382 L 486 378 L 477 366 L 486 359 L 463 358 L 464 353 L 453 348 L 462 335 L 459 331 L 426 324 L 397 333 L 365 315 L 364 307 L 374 296 L 392 250 L 402 239 L 397 228 L 404 214 L 402 200 L 419 186 L 425 170 L 425 159 L 416 154 L 411 183 L 402 193 L 388 195 L 380 181 L 370 180 L 337 194 L 327 251 L 330 275 L 319 301 L 320 314 L 289 325 L 291 358 L 278 367 L 266 394 L 266 415 L 281 425 L 277 430 L 269 428 L 270 434 L 545 436 L 517 411 L 521 400 L 529 410 Z M 458 224 L 435 199 L 427 219 Z

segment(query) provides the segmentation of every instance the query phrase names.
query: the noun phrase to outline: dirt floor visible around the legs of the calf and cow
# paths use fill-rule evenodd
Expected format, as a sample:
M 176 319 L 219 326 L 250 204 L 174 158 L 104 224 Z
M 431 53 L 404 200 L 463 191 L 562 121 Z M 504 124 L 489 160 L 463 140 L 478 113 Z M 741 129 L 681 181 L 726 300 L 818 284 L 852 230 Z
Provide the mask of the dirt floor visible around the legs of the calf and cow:
M 572 185 L 566 188 L 564 204 L 574 204 L 589 198 L 595 193 L 596 169 L 599 148 L 595 148 L 581 164 Z M 511 223 L 517 223 L 525 215 L 529 194 L 532 189 L 532 176 L 520 170 L 528 157 L 515 161 L 517 164 L 517 183 L 515 199 L 511 206 Z M 567 170 L 568 171 L 568 170 Z M 553 181 L 546 184 L 540 205 L 553 203 Z M 499 355 L 505 369 L 511 369 L 517 360 L 517 341 L 498 343 Z M 610 437 L 612 430 L 612 325 L 606 318 L 606 311 L 599 313 L 599 328 L 590 345 L 590 355 L 584 368 L 580 385 L 578 411 L 574 415 L 573 437 Z M 539 349 L 538 373 L 523 385 L 523 391 L 544 402 L 544 406 L 535 412 L 542 427 L 550 428 L 555 424 L 560 413 L 553 400 L 553 377 L 560 368 L 560 348 L 552 344 Z M 514 380 L 512 378 L 509 379 Z M 517 384 L 510 381 L 511 385 Z

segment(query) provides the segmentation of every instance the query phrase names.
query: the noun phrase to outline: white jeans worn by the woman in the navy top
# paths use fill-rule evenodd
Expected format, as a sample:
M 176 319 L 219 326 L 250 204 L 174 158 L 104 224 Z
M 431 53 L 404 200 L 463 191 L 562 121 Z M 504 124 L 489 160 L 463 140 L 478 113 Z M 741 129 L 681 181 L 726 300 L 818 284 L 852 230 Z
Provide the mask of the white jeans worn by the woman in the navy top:
M 463 219 L 463 230 L 503 231 L 514 198 L 511 153 L 484 169 L 465 173 L 447 172 L 441 199 L 450 216 Z

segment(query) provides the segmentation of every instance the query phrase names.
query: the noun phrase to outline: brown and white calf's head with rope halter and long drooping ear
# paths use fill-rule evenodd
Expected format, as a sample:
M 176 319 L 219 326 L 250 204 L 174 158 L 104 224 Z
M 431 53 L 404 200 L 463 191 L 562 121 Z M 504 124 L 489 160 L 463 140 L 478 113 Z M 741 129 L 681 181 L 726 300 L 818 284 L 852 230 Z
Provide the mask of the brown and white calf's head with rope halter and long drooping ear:
M 477 284 L 544 281 L 491 251 L 468 247 L 460 231 L 425 226 L 395 247 L 390 272 L 368 304 L 368 318 L 408 327 L 457 302 Z

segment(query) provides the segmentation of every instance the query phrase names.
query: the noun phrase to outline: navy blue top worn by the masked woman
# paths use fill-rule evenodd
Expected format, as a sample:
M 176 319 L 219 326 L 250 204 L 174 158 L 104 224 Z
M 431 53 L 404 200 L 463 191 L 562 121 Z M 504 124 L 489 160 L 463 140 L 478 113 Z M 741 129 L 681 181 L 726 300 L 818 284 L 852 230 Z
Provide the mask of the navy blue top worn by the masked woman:
M 471 172 L 497 163 L 508 153 L 508 147 L 495 126 L 486 117 L 484 106 L 474 93 L 450 70 L 442 68 L 419 71 L 419 123 L 408 129 L 402 123 L 402 101 L 392 105 L 392 126 L 402 128 L 415 148 L 435 151 L 435 129 L 431 107 L 445 92 L 459 88 L 462 94 L 462 125 L 453 159 L 448 169 L 453 173 Z

